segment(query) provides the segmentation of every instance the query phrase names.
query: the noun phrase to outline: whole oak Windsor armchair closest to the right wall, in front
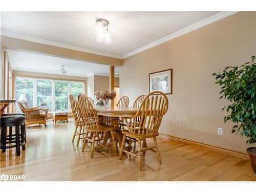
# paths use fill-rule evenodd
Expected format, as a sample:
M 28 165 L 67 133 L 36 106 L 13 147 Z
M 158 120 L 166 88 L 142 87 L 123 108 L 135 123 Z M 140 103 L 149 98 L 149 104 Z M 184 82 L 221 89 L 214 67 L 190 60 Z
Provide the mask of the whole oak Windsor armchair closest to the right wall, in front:
M 151 150 L 157 154 L 158 162 L 159 164 L 161 164 L 161 157 L 158 150 L 156 137 L 159 135 L 158 130 L 163 115 L 167 112 L 167 109 L 168 99 L 166 95 L 162 92 L 155 91 L 148 94 L 144 98 L 137 113 L 129 119 L 124 119 L 127 126 L 127 130 L 122 131 L 123 140 L 119 154 L 119 159 L 121 159 L 123 152 L 129 155 L 129 159 L 131 155 L 134 157 L 138 157 L 139 170 L 141 170 L 141 152 L 143 152 L 142 155 L 144 158 L 145 151 Z M 137 124 L 138 117 L 140 118 L 140 120 L 139 123 Z M 129 150 L 130 147 L 128 147 L 127 150 L 124 149 L 126 136 L 138 140 L 138 151 L 131 152 L 131 150 Z M 145 142 L 147 138 L 153 138 L 155 145 L 147 146 Z M 143 147 L 141 147 L 141 141 L 145 143 Z

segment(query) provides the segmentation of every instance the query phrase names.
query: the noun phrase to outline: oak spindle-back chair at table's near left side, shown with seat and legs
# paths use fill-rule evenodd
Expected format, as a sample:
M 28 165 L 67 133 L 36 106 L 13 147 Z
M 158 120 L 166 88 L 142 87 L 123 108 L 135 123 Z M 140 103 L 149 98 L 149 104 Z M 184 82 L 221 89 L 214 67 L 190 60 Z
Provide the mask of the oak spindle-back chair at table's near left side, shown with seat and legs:
M 91 101 L 88 99 L 88 97 L 84 96 L 83 94 L 78 95 L 78 103 L 80 106 L 80 111 L 82 115 L 82 119 L 86 124 L 86 136 L 84 137 L 83 140 L 83 145 L 82 145 L 82 152 L 84 151 L 84 148 L 86 146 L 86 142 L 89 141 L 92 143 L 91 146 L 91 159 L 93 158 L 93 153 L 96 148 L 103 148 L 104 145 L 101 143 L 101 140 L 103 139 L 100 135 L 105 132 L 111 132 L 111 138 L 112 142 L 111 145 L 114 145 L 115 151 L 117 153 L 117 146 L 114 138 L 114 130 L 117 130 L 116 127 L 111 126 L 111 125 L 105 125 L 105 124 L 100 124 L 98 122 L 97 118 L 97 112 L 93 109 L 93 105 Z M 92 138 L 88 137 L 88 134 L 91 133 Z M 97 137 L 97 139 L 96 139 Z M 95 143 L 97 146 L 95 146 Z

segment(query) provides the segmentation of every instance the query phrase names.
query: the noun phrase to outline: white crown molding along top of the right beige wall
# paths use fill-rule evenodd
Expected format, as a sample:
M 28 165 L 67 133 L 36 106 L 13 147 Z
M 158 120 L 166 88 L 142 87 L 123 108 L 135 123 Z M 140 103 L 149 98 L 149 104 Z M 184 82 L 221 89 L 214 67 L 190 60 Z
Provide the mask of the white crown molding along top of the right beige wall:
M 166 36 L 166 37 L 163 37 L 163 38 L 158 39 L 158 40 L 156 40 L 154 42 L 151 42 L 150 44 L 147 44 L 146 46 L 143 46 L 143 47 L 141 47 L 139 49 L 136 49 L 136 50 L 134 50 L 134 51 L 132 51 L 130 53 L 127 53 L 127 54 L 123 55 L 122 58 L 124 59 L 124 58 L 130 57 L 132 55 L 135 55 L 137 53 L 140 53 L 142 51 L 145 51 L 147 49 L 153 48 L 155 46 L 163 44 L 166 41 L 172 40 L 172 39 L 177 38 L 179 36 L 182 36 L 182 35 L 184 35 L 186 33 L 189 33 L 191 31 L 195 31 L 195 30 L 197 30 L 197 29 L 199 29 L 201 27 L 204 27 L 204 26 L 209 25 L 211 23 L 217 22 L 217 20 L 220 20 L 222 18 L 228 17 L 228 16 L 230 16 L 230 15 L 232 15 L 234 13 L 237 13 L 237 12 L 238 11 L 222 11 L 220 13 L 217 13 L 216 15 L 212 15 L 212 16 L 206 18 L 206 19 L 203 19 L 203 20 L 201 20 L 200 22 L 198 22 L 196 24 L 190 25 L 190 26 L 188 26 L 188 27 L 186 27 L 184 29 L 181 29 L 180 31 L 177 31 L 177 32 L 175 32 L 173 34 L 170 34 L 170 35 Z

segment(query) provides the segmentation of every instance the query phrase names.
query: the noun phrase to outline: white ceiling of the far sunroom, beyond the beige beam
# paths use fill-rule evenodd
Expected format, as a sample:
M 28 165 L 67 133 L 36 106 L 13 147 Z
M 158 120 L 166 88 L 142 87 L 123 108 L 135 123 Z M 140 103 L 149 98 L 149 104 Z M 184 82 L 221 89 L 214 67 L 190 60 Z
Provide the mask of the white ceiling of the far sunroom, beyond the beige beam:
M 65 65 L 64 68 L 67 70 L 65 75 L 109 76 L 109 66 L 106 65 L 14 50 L 7 50 L 7 53 L 13 70 L 60 74 L 59 68 L 61 65 Z M 115 68 L 115 73 L 117 73 L 115 76 L 118 77 L 119 68 Z

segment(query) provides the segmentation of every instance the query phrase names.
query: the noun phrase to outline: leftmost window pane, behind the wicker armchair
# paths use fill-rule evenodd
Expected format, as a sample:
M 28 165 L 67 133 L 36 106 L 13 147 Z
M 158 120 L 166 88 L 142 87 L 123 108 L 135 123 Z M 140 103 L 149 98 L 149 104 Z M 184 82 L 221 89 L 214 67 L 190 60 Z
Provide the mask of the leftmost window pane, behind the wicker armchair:
M 33 106 L 33 79 L 16 78 L 16 98 L 24 94 L 30 106 Z

